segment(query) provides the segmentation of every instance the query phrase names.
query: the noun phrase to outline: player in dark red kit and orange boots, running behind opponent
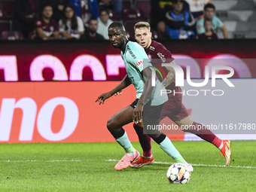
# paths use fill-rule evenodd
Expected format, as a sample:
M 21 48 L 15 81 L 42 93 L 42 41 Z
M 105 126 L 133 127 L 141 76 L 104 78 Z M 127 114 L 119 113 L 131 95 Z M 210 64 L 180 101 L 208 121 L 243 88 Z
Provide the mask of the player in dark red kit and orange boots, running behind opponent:
M 147 22 L 139 22 L 136 23 L 134 26 L 135 31 L 135 38 L 136 41 L 142 45 L 142 47 L 145 49 L 146 53 L 148 54 L 148 57 L 150 59 L 157 59 L 158 63 L 157 65 L 161 66 L 161 63 L 175 63 L 174 58 L 172 57 L 172 54 L 169 50 L 166 49 L 166 47 L 163 46 L 163 44 L 158 43 L 157 41 L 151 40 L 151 32 L 150 32 L 150 25 Z M 155 61 L 155 60 L 154 60 Z M 152 62 L 152 65 L 154 66 L 154 62 Z M 173 120 L 178 126 L 201 126 L 203 127 L 202 130 L 184 130 L 184 132 L 194 133 L 197 136 L 199 136 L 201 139 L 206 140 L 207 142 L 212 143 L 212 145 L 215 145 L 220 151 L 221 155 L 226 159 L 226 165 L 228 166 L 230 164 L 230 147 L 231 142 L 229 140 L 221 140 L 217 136 L 215 136 L 214 133 L 212 133 L 211 130 L 207 130 L 206 126 L 203 126 L 200 123 L 194 122 L 188 112 L 187 108 L 182 104 L 182 94 L 173 94 L 173 90 L 175 90 L 175 93 L 181 93 L 181 88 L 175 86 L 175 71 L 172 67 L 166 66 L 163 67 L 164 71 L 167 74 L 167 78 L 165 78 L 162 81 L 162 78 L 160 75 L 158 75 L 158 79 L 162 81 L 162 84 L 164 87 L 166 87 L 166 90 L 172 90 L 172 93 L 168 94 L 169 100 L 165 102 L 162 109 L 162 116 L 169 117 L 171 120 Z M 139 136 L 139 142 L 142 145 L 143 149 L 143 156 L 140 157 L 138 160 L 133 162 L 130 166 L 132 167 L 142 167 L 148 164 L 151 164 L 154 162 L 154 157 L 151 154 L 151 139 L 146 134 L 143 134 L 142 127 L 137 125 L 136 123 L 133 124 L 134 129 L 136 130 L 136 133 Z

